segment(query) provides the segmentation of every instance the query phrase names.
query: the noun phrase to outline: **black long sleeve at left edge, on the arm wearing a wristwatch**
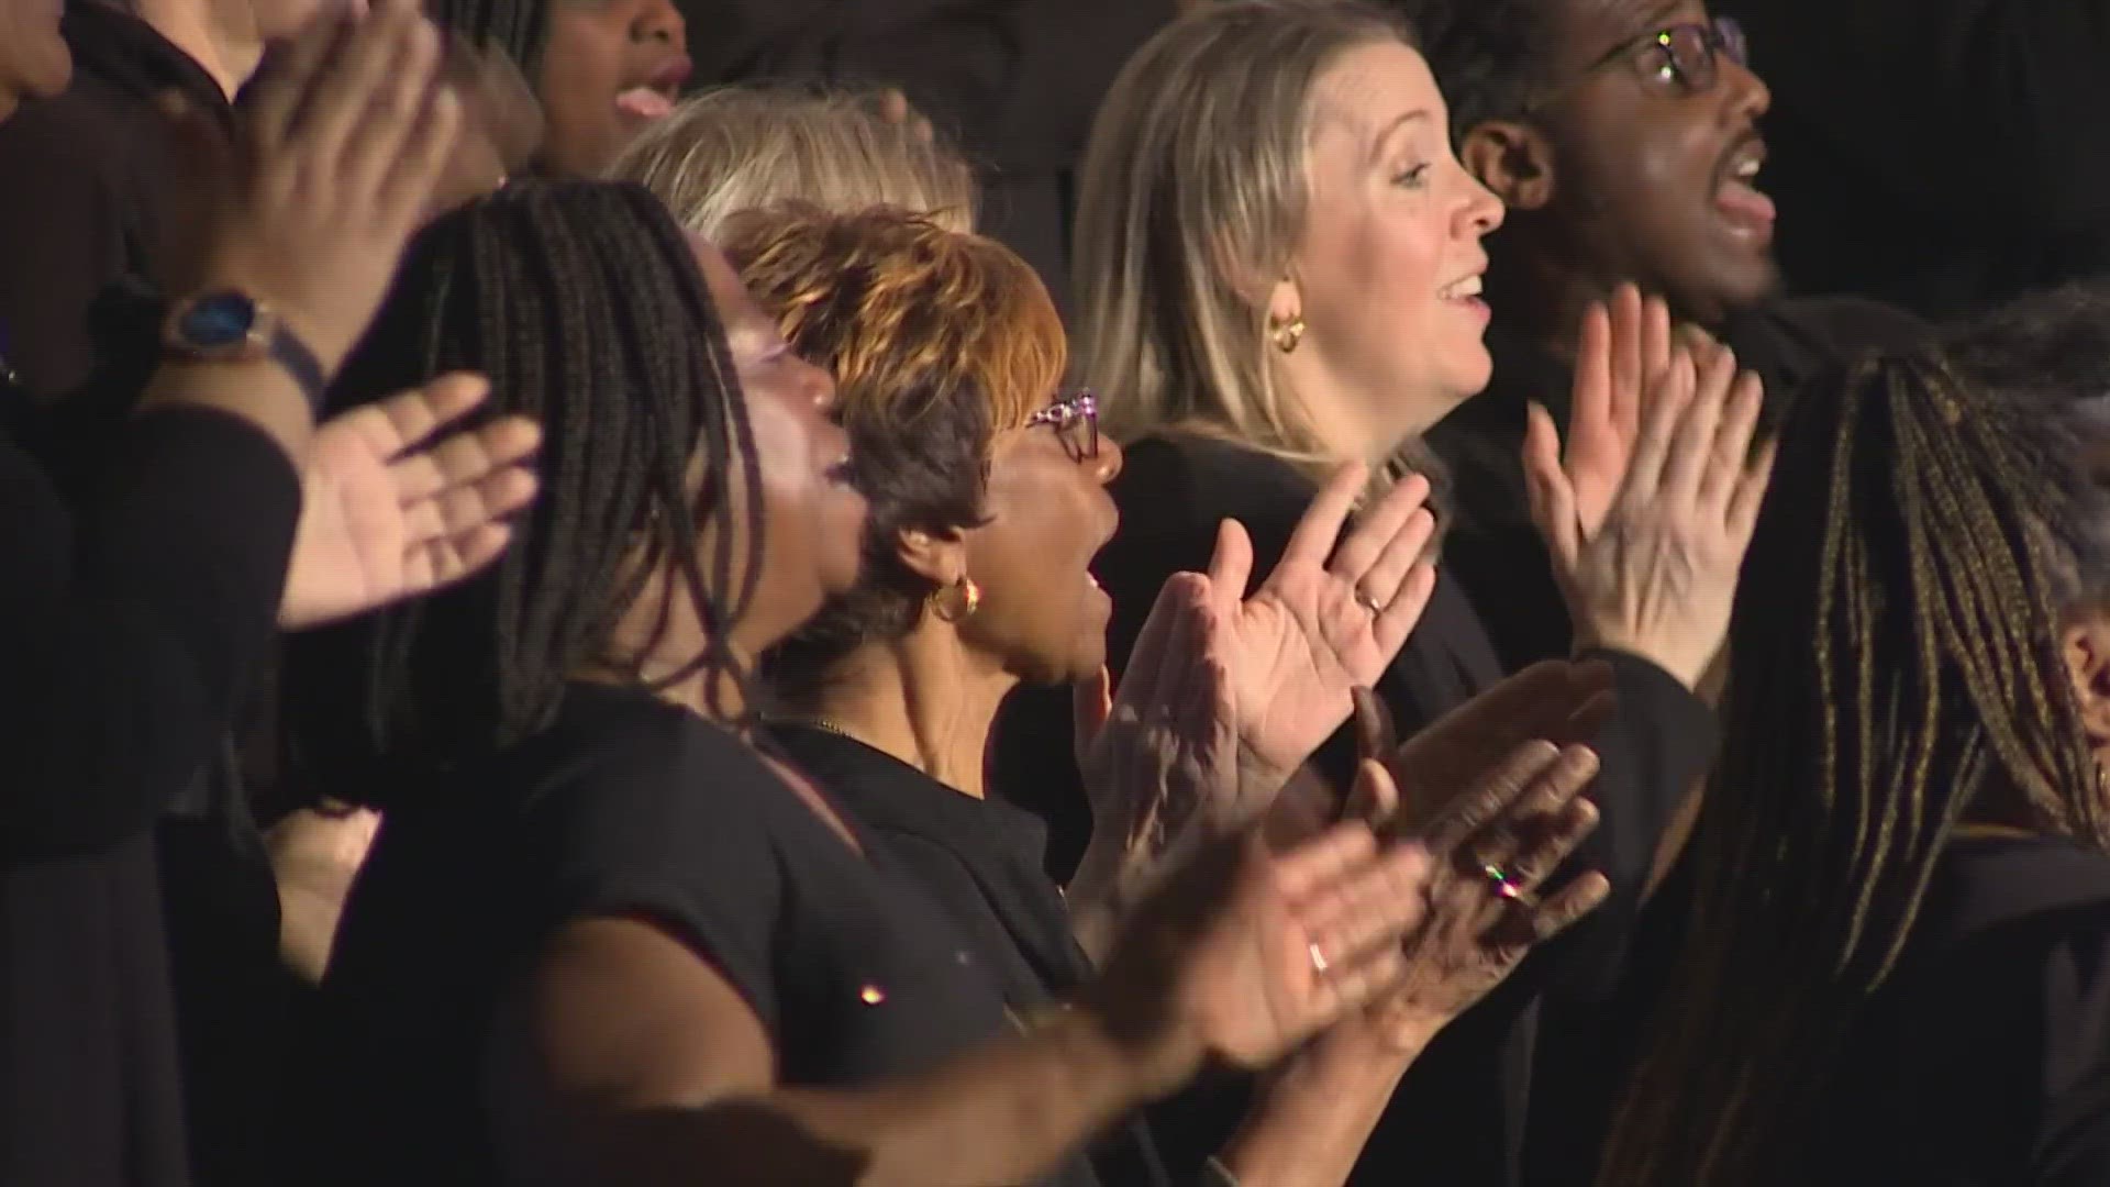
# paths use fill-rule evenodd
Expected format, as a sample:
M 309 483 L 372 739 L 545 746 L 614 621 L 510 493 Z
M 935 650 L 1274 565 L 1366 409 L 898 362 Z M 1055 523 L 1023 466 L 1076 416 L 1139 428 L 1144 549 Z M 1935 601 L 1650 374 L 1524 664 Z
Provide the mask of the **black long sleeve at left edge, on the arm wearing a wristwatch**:
M 129 420 L 106 482 L 63 501 L 0 435 L 0 853 L 148 828 L 224 733 L 276 634 L 300 475 L 211 410 Z

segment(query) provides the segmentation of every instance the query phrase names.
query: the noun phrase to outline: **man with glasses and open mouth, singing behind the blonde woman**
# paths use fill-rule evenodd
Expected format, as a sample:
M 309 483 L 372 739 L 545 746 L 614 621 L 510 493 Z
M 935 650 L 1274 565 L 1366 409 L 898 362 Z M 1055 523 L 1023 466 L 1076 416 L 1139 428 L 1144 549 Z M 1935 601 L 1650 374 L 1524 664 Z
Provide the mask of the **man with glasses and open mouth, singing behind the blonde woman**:
M 1458 158 L 1509 207 L 1488 239 L 1494 382 L 1428 441 L 1452 469 L 1445 566 L 1511 667 L 1568 655 L 1523 488 L 1526 408 L 1566 425 L 1576 332 L 1620 283 L 1661 296 L 1766 378 L 1768 406 L 1918 323 L 1861 300 L 1781 302 L 1760 118 L 1737 21 L 1699 0 L 1390 0 L 1422 36 Z

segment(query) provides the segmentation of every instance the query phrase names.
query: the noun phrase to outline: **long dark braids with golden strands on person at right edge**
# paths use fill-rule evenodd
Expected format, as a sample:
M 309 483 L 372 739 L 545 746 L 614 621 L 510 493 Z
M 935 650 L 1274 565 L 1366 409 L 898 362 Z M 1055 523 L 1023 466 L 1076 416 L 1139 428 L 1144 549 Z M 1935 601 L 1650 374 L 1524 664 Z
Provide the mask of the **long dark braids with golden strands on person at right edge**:
M 2110 589 L 2085 465 L 2106 380 L 2110 302 L 2068 291 L 1791 408 L 1688 853 L 1694 940 L 1599 1183 L 1806 1181 L 1831 1058 L 1954 828 L 2110 851 L 2057 653 L 2066 608 Z

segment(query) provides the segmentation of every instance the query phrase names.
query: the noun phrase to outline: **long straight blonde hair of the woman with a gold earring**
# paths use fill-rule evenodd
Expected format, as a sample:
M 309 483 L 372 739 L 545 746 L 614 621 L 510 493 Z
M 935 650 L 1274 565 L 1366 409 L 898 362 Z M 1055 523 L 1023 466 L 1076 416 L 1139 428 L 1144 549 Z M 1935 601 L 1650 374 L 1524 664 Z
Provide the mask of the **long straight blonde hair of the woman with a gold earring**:
M 1355 0 L 1245 0 L 1173 21 L 1120 70 L 1072 260 L 1080 374 L 1116 439 L 1182 429 L 1327 465 L 1251 289 L 1304 232 L 1315 84 L 1374 42 L 1414 38 Z

